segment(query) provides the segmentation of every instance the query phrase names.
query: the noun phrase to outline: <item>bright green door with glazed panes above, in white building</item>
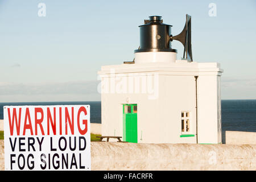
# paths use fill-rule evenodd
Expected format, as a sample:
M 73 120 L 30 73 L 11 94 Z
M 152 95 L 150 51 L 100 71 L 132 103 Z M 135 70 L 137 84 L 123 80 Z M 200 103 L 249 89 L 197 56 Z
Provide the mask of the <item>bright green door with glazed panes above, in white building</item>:
M 123 105 L 123 141 L 138 143 L 137 104 Z

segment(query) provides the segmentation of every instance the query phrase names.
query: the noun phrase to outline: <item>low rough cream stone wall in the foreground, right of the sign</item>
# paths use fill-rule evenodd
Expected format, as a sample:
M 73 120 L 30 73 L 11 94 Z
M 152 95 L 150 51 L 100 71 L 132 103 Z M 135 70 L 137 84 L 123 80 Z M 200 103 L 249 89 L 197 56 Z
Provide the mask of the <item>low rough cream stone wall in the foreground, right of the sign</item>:
M 256 145 L 92 142 L 92 170 L 256 170 Z

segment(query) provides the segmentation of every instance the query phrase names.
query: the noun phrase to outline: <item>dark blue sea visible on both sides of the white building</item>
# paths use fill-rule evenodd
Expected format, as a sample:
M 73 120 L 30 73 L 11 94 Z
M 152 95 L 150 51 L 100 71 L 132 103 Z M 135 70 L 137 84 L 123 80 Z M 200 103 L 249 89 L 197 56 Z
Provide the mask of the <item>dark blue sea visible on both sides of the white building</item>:
M 0 102 L 0 119 L 3 106 L 11 105 L 90 105 L 90 122 L 101 123 L 101 102 Z M 256 100 L 222 100 L 221 129 L 224 131 L 256 132 Z

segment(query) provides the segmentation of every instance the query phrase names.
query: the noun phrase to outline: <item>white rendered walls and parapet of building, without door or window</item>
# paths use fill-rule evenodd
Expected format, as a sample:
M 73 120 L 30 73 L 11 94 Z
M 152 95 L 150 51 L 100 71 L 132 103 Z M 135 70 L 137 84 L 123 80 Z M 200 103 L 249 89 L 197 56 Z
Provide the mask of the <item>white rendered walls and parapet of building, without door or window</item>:
M 199 76 L 199 143 L 220 143 L 220 90 L 217 75 L 221 72 L 217 63 L 199 64 L 186 61 L 102 67 L 99 72 L 102 82 L 105 83 L 102 89 L 110 85 L 109 92 L 101 94 L 102 135 L 123 137 L 122 104 L 138 104 L 138 143 L 196 143 L 194 76 Z M 126 92 L 117 93 L 115 88 L 120 84 L 110 84 L 113 80 L 129 81 L 138 77 L 143 80 L 143 76 L 150 74 L 158 75 L 158 94 L 144 93 L 142 90 L 140 93 L 130 92 L 130 85 L 126 86 Z M 180 137 L 181 111 L 191 111 L 190 134 L 195 137 Z

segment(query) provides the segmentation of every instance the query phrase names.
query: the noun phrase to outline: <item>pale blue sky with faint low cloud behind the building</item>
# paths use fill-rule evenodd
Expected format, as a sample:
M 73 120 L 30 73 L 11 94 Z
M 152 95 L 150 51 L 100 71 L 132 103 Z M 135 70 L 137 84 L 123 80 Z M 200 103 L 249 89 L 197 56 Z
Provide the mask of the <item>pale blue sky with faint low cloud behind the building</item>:
M 38 16 L 38 4 L 46 16 Z M 209 3 L 217 16 L 210 17 Z M 0 0 L 0 102 L 100 101 L 101 65 L 133 60 L 139 28 L 192 16 L 193 60 L 221 64 L 222 99 L 256 99 L 256 1 Z M 183 46 L 173 42 L 180 58 Z

